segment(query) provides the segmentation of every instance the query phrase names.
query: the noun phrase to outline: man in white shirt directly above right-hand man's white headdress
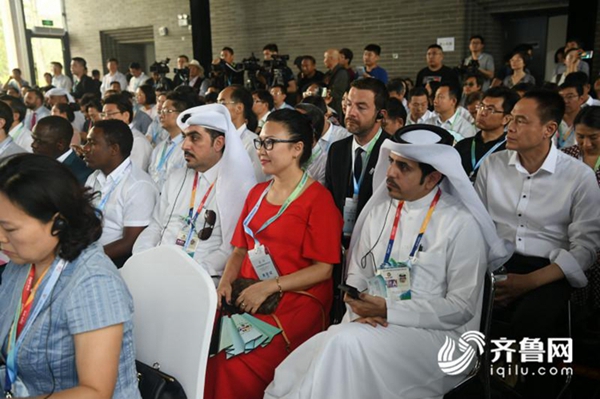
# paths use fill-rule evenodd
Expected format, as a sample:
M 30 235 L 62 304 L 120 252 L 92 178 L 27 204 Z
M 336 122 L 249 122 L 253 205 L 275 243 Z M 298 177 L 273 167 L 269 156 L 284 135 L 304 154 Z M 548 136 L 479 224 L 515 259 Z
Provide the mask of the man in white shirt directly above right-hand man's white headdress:
M 477 133 L 473 123 L 466 119 L 464 113 L 461 112 L 458 106 L 459 101 L 460 89 L 454 83 L 440 83 L 433 100 L 435 113 L 425 121 L 430 125 L 443 127 L 454 136 L 454 140 L 457 142 L 467 137 L 473 137 Z

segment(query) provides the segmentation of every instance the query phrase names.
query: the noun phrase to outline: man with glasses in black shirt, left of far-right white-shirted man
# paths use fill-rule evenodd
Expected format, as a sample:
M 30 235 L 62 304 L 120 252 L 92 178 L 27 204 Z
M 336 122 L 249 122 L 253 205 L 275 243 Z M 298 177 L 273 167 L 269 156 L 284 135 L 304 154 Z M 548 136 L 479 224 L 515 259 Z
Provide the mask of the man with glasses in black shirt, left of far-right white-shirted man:
M 454 147 L 471 182 L 475 182 L 477 172 L 488 156 L 506 148 L 505 129 L 517 101 L 517 93 L 498 86 L 486 91 L 477 105 L 475 126 L 479 131 L 475 136 L 459 141 Z

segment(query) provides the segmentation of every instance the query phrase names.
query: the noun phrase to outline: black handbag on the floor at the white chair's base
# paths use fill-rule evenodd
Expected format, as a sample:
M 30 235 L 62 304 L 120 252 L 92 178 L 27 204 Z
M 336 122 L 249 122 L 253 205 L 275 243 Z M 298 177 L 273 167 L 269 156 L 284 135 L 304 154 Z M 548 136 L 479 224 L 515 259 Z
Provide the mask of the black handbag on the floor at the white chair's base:
M 179 381 L 160 371 L 158 364 L 150 367 L 136 360 L 135 368 L 142 399 L 187 399 Z

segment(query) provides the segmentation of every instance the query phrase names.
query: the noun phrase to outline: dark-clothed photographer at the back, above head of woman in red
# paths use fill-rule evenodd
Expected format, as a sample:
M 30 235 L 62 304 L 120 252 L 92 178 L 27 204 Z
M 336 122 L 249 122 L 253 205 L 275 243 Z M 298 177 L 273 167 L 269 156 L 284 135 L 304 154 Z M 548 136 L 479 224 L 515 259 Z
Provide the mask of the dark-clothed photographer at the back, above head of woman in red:
M 279 55 L 277 45 L 270 43 L 263 47 L 263 59 L 263 67 L 257 75 L 258 80 L 267 88 L 283 85 L 286 87 L 287 94 L 289 94 L 288 98 L 295 98 L 297 85 L 294 80 L 294 73 L 286 63 L 290 56 Z

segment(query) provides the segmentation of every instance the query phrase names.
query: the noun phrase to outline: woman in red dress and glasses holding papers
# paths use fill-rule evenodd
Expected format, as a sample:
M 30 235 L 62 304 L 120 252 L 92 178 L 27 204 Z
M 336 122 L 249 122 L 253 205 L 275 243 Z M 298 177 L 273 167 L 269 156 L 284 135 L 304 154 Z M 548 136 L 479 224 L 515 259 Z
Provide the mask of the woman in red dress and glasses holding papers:
M 209 359 L 205 399 L 262 398 L 279 363 L 326 328 L 333 265 L 340 261 L 342 217 L 329 191 L 301 168 L 311 155 L 312 142 L 310 122 L 295 110 L 271 113 L 255 140 L 263 172 L 273 181 L 256 185 L 248 194 L 217 294 L 230 303 L 236 278 L 258 280 L 248 254 L 264 246 L 279 277 L 246 288 L 236 305 L 283 332 L 247 354 L 227 360 L 220 352 Z M 275 312 L 257 314 L 274 293 L 282 295 Z

